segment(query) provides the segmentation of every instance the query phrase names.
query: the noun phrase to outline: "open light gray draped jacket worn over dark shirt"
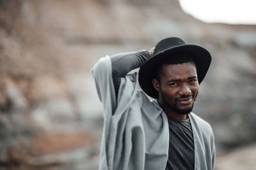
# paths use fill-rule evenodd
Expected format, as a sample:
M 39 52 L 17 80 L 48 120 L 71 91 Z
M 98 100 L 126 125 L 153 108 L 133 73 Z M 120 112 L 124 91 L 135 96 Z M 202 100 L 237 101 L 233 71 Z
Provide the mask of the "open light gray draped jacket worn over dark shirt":
M 101 170 L 161 170 L 168 159 L 168 118 L 157 100 L 138 90 L 138 73 L 122 78 L 116 99 L 111 60 L 101 58 L 92 68 L 104 109 L 100 152 Z M 189 113 L 195 142 L 195 169 L 213 169 L 214 136 L 211 125 Z

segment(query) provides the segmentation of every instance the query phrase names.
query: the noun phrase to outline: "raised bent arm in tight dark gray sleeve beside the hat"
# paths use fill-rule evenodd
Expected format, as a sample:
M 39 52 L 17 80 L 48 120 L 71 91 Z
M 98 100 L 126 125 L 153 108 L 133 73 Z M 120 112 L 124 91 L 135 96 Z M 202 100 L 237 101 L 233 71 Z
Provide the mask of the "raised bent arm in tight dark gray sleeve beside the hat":
M 112 64 L 112 76 L 115 86 L 115 92 L 117 92 L 120 86 L 120 81 L 132 69 L 136 69 L 144 64 L 149 59 L 150 54 L 147 50 L 140 50 L 138 52 L 126 52 L 118 53 L 110 57 Z

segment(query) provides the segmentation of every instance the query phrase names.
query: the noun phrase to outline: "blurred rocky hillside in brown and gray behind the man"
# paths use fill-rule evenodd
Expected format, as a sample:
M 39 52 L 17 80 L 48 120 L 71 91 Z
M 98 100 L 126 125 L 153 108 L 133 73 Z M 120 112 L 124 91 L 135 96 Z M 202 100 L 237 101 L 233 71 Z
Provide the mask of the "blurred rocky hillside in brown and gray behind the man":
M 216 169 L 256 169 L 256 25 L 205 24 L 179 1 L 0 0 L 0 169 L 97 169 L 100 57 L 178 36 L 209 49 L 195 112 Z

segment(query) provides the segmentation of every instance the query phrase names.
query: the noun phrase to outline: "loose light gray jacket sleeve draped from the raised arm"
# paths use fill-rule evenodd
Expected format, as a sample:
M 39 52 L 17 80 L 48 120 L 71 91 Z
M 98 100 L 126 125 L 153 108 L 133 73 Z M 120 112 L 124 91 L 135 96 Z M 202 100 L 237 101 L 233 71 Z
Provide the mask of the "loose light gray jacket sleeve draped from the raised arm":
M 112 74 L 108 56 L 101 58 L 92 68 L 104 111 L 99 169 L 142 170 L 145 164 L 145 136 L 140 97 L 137 96 L 138 74 L 121 78 L 118 97 L 115 96 Z M 119 74 L 120 77 L 122 75 Z

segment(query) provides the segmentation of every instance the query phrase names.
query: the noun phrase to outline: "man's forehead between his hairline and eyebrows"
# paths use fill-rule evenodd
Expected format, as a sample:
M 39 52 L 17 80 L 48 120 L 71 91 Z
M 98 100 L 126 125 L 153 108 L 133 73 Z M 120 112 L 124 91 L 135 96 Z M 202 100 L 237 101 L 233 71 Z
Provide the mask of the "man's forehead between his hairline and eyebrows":
M 191 76 L 197 76 L 195 62 L 164 64 L 161 70 L 161 78 L 182 79 Z

